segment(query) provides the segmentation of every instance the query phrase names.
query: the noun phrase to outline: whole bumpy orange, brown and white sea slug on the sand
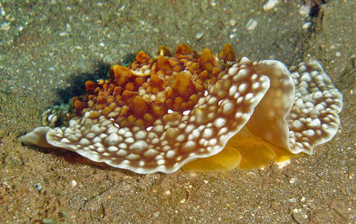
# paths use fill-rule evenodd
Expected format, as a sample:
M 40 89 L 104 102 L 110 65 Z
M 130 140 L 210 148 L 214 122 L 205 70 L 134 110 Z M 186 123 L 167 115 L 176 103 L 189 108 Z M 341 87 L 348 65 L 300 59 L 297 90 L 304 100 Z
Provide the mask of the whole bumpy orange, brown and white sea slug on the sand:
M 158 55 L 87 81 L 21 142 L 151 174 L 258 169 L 313 154 L 337 132 L 342 95 L 315 60 L 238 62 L 229 44 L 217 56 L 184 44 Z

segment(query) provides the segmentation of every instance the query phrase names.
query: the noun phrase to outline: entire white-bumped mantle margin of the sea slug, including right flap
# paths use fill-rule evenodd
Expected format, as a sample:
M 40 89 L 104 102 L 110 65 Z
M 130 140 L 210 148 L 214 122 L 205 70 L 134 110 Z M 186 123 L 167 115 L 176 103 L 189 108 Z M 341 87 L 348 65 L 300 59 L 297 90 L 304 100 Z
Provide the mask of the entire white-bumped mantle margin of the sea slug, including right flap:
M 144 67 L 134 72 L 150 73 L 150 68 Z M 290 82 L 294 82 L 295 95 L 292 91 L 293 94 L 280 101 L 278 97 L 270 97 L 273 99 L 267 100 L 276 110 L 268 109 L 268 104 L 263 108 L 268 109 L 265 114 L 270 117 L 288 114 L 281 122 L 288 123 L 285 135 L 289 151 L 312 154 L 315 146 L 327 142 L 337 132 L 342 96 L 318 62 L 302 63 L 290 70 L 293 81 L 288 69 L 278 61 L 253 63 L 242 58 L 229 70 L 219 73 L 216 82 L 209 82 L 192 110 L 168 110 L 152 127 L 120 127 L 114 119 L 105 116 L 90 119 L 91 112 L 85 112 L 83 117 L 70 119 L 67 127 L 52 128 L 61 119 L 59 107 L 53 107 L 43 118 L 43 123 L 50 127 L 38 127 L 21 137 L 21 141 L 76 151 L 93 161 L 139 174 L 172 173 L 189 161 L 219 153 L 248 121 L 261 120 L 253 112 L 266 102 L 267 97 L 263 97 L 271 92 L 273 96 L 283 95 L 284 90 L 279 90 L 279 86 L 293 90 Z M 268 75 L 264 74 L 266 71 Z M 268 91 L 270 80 L 278 87 Z M 138 94 L 146 99 L 155 97 L 142 89 Z M 289 99 L 290 96 L 294 99 Z M 293 107 L 283 107 L 284 102 L 290 102 Z M 278 108 L 283 111 L 279 112 Z

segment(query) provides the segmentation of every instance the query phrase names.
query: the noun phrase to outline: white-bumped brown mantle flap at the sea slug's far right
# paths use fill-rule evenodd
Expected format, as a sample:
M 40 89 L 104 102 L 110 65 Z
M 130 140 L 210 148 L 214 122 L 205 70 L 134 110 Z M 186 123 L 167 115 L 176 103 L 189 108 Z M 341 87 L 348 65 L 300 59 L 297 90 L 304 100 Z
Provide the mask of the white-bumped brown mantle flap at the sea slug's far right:
M 330 141 L 337 132 L 342 95 L 313 60 L 290 68 L 295 100 L 288 117 L 290 151 L 313 154 L 313 148 Z

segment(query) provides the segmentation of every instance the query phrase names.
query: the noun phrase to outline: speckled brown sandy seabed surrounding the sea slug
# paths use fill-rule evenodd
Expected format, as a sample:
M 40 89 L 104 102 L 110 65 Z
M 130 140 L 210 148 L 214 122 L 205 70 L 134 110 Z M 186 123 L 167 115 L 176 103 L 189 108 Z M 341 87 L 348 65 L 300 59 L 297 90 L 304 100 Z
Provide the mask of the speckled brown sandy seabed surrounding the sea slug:
M 301 0 L 268 11 L 242 0 L 0 3 L 1 223 L 356 222 L 355 1 L 328 1 L 313 20 Z M 283 168 L 202 174 L 139 175 L 16 141 L 110 65 L 180 43 L 215 54 L 231 43 L 236 58 L 288 66 L 319 60 L 344 96 L 339 132 Z

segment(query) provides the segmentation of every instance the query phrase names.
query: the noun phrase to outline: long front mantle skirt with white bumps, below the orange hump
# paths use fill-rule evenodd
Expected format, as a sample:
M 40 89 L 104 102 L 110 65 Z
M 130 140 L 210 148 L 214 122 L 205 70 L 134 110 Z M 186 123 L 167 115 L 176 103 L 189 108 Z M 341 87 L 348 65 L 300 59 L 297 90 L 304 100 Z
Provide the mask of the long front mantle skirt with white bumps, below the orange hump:
M 239 67 L 244 64 L 236 64 L 221 72 L 221 80 L 206 87 L 192 110 L 169 110 L 175 120 L 168 121 L 163 116 L 152 127 L 122 128 L 104 116 L 90 119 L 90 112 L 85 112 L 83 117 L 70 120 L 68 127 L 48 129 L 46 141 L 93 161 L 140 174 L 172 173 L 189 161 L 218 153 L 244 127 L 269 83 L 266 76 L 254 74 L 250 61 L 246 63 L 249 65 L 243 70 Z M 253 91 L 248 84 L 251 76 L 258 83 Z M 248 100 L 244 100 L 246 97 Z M 251 102 L 251 98 L 256 100 Z M 240 114 L 239 119 L 231 119 L 241 107 L 246 116 Z M 216 135 L 221 132 L 224 136 Z

